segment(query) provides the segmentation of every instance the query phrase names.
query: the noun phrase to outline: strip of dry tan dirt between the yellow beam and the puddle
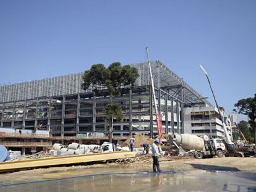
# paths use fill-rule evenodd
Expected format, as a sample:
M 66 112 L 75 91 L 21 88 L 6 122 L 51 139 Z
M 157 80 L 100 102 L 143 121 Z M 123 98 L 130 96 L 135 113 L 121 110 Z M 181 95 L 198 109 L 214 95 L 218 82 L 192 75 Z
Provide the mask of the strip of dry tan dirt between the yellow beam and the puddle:
M 67 170 L 87 169 L 90 167 L 116 167 L 124 166 L 132 169 L 151 170 L 151 156 L 137 156 L 135 162 L 123 162 L 117 164 L 112 162 L 109 164 L 93 164 L 93 165 L 73 165 L 68 167 L 49 167 L 45 169 L 23 170 L 20 172 L 7 173 L 11 175 L 38 174 L 49 172 L 65 172 Z M 160 167 L 162 170 L 209 170 L 209 171 L 245 171 L 256 173 L 256 158 L 255 157 L 222 157 L 211 159 L 187 159 L 186 157 L 164 156 L 160 157 Z

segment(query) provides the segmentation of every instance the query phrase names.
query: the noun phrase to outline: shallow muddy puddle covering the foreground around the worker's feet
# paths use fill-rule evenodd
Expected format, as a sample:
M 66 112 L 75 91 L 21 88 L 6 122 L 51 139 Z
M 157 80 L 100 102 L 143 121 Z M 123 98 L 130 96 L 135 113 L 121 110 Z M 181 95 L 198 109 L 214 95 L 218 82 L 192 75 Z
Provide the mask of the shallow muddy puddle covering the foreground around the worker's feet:
M 256 191 L 256 173 L 98 167 L 0 175 L 0 191 Z

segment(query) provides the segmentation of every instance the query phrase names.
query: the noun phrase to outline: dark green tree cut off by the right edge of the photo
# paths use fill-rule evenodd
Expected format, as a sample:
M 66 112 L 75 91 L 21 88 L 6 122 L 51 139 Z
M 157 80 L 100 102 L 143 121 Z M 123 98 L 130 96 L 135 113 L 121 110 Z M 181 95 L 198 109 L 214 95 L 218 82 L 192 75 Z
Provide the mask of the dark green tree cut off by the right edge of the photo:
M 254 142 L 256 142 L 256 94 L 254 98 L 240 99 L 234 106 L 237 107 L 239 114 L 249 117 L 250 133 L 254 135 Z

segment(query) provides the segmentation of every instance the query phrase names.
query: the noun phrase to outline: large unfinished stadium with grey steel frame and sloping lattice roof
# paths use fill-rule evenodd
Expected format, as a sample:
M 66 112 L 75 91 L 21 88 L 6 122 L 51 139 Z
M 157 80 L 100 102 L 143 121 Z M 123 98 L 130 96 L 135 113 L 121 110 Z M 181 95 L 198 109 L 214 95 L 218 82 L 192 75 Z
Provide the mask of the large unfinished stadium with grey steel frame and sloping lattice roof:
M 123 88 L 114 102 L 122 106 L 124 120 L 113 123 L 113 135 L 157 134 L 148 63 L 132 64 L 139 72 L 136 88 Z M 152 61 L 158 110 L 165 133 L 184 133 L 184 107 L 211 106 L 182 78 L 160 61 Z M 46 130 L 58 137 L 108 133 L 102 110 L 109 103 L 109 91 L 95 96 L 82 89 L 83 73 L 0 86 L 1 128 Z M 0 131 L 1 132 L 1 131 Z

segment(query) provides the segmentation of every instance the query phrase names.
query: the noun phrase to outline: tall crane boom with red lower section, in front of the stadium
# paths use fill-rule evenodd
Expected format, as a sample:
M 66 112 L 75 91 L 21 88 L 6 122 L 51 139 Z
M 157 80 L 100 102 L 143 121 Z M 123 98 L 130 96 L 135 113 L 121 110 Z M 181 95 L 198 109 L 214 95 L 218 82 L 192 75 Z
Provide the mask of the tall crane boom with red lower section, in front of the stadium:
M 149 71 L 150 71 L 150 80 L 151 80 L 151 88 L 152 88 L 152 93 L 153 93 L 153 100 L 154 100 L 154 105 L 155 105 L 156 125 L 157 125 L 157 130 L 158 130 L 158 136 L 160 136 L 160 143 L 161 143 L 161 137 L 162 137 L 162 134 L 163 134 L 162 116 L 161 116 L 161 113 L 158 112 L 158 110 L 157 110 L 155 86 L 154 86 L 154 81 L 153 81 L 153 75 L 152 75 L 152 72 L 151 72 L 150 59 L 149 59 L 149 56 L 148 56 L 148 47 L 146 48 L 146 52 L 147 52 L 147 59 L 148 59 L 148 67 L 149 67 Z

